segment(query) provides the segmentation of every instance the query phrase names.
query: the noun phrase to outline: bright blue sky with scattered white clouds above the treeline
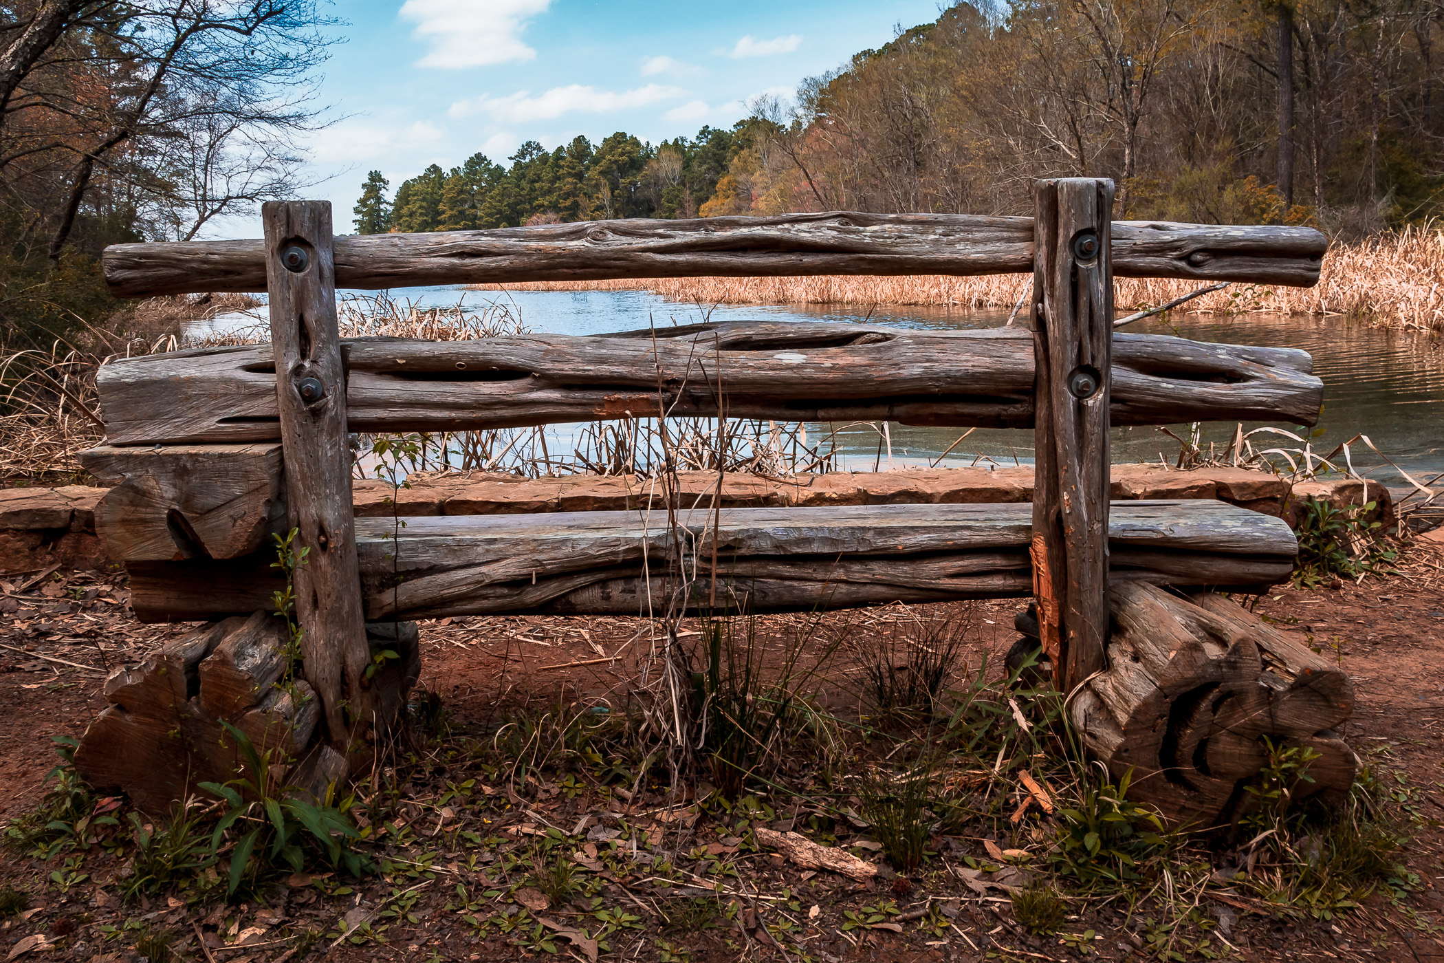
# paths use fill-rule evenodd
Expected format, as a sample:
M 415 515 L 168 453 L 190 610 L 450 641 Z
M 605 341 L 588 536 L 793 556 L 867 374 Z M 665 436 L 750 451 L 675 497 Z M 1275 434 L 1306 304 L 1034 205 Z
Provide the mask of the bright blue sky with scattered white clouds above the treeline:
M 757 94 L 788 95 L 807 75 L 937 19 L 939 0 L 336 0 L 348 25 L 323 66 L 338 123 L 310 137 L 305 193 L 329 199 L 336 232 L 368 170 L 391 191 L 427 165 L 481 150 L 507 163 L 625 130 L 644 140 L 731 126 Z M 254 232 L 253 218 L 211 237 Z

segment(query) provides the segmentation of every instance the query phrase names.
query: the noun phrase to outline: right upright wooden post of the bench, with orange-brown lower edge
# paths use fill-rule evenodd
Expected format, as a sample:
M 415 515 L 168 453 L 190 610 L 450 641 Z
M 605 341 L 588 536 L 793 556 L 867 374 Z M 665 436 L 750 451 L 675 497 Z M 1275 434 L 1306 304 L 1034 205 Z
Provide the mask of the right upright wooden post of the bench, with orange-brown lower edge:
M 1113 182 L 1034 188 L 1032 591 L 1064 692 L 1105 667 Z

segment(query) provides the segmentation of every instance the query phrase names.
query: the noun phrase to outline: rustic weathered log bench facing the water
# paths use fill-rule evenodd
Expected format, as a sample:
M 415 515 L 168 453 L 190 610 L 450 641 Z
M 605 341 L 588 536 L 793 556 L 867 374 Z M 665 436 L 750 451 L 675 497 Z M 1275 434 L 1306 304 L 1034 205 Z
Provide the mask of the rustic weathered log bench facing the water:
M 306 729 L 318 736 L 287 749 L 328 775 L 396 709 L 365 673 L 368 621 L 1032 595 L 1021 627 L 1073 693 L 1086 745 L 1134 767 L 1141 796 L 1170 816 L 1236 807 L 1271 733 L 1324 751 L 1323 785 L 1347 787 L 1353 757 L 1328 732 L 1347 716 L 1347 679 L 1219 596 L 1194 603 L 1160 588 L 1278 582 L 1297 552 L 1287 524 L 1222 502 L 1108 501 L 1110 424 L 1311 424 L 1323 391 L 1301 351 L 1115 335 L 1113 276 L 1311 284 L 1326 241 L 1308 228 L 1113 222 L 1110 206 L 1110 182 L 1064 179 L 1037 185 L 1034 218 L 833 212 L 332 238 L 329 205 L 287 202 L 264 205 L 263 241 L 113 247 L 105 274 L 121 296 L 266 290 L 271 344 L 101 370 L 107 439 L 84 462 L 124 482 L 97 514 L 100 534 L 126 559 L 137 616 L 208 621 L 269 609 L 280 578 L 270 536 L 299 531 L 309 556 L 296 605 L 319 718 Z M 1031 332 L 728 322 L 427 342 L 342 339 L 335 318 L 338 284 L 1028 270 Z M 348 432 L 658 414 L 1031 426 L 1035 498 L 438 517 L 400 530 L 352 518 Z M 692 576 L 669 579 L 669 566 Z M 263 628 L 227 625 L 152 671 L 199 673 L 186 699 L 205 703 L 211 653 L 234 661 L 241 642 L 227 640 L 254 648 Z M 82 772 L 120 784 L 103 757 L 140 725 L 127 679 L 131 705 L 117 694 L 77 755 Z M 254 712 L 264 687 L 232 710 Z M 214 720 L 198 712 L 188 718 L 204 735 Z M 172 765 L 157 752 L 146 765 Z

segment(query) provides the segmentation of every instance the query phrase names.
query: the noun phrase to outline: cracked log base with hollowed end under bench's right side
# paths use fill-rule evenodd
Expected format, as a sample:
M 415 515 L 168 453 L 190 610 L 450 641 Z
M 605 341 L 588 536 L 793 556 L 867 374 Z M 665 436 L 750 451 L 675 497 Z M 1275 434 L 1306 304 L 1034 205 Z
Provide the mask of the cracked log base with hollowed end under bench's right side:
M 1177 824 L 1238 819 L 1265 739 L 1323 754 L 1314 781 L 1291 787 L 1295 800 L 1349 791 L 1356 758 L 1334 728 L 1353 710 L 1353 684 L 1337 666 L 1219 595 L 1115 582 L 1110 612 L 1108 668 L 1071 716 L 1115 777 L 1132 771 L 1129 798 Z

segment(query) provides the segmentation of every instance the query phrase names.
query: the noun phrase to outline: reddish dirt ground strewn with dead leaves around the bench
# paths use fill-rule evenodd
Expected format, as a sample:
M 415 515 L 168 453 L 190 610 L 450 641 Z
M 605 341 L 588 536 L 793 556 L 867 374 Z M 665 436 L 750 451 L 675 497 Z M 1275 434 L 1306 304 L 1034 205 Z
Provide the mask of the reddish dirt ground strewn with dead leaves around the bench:
M 1206 947 L 1168 944 L 1162 950 L 1145 941 L 1136 917 L 1118 905 L 1095 907 L 1083 899 L 1070 905 L 1077 921 L 1070 920 L 1064 933 L 1084 925 L 1096 930 L 1097 938 L 1083 947 L 1092 959 L 1444 960 L 1444 895 L 1438 889 L 1444 885 L 1440 559 L 1441 553 L 1411 556 L 1411 565 L 1404 566 L 1406 575 L 1370 578 L 1359 585 L 1279 588 L 1255 609 L 1281 628 L 1307 632 L 1317 650 L 1337 658 L 1353 677 L 1357 707 L 1343 735 L 1395 781 L 1399 811 L 1411 822 L 1404 862 L 1417 879 L 1408 891 L 1391 898 L 1380 889 L 1357 910 L 1333 918 L 1287 918 L 1238 891 L 1210 889 L 1201 895 L 1200 908 L 1217 923 L 1214 933 L 1223 940 L 1213 938 Z M 108 670 L 139 661 L 188 627 L 134 622 L 121 575 L 35 573 L 0 583 L 0 819 L 9 820 L 40 806 L 46 774 L 56 764 L 51 738 L 84 732 L 105 705 L 103 683 Z M 1001 661 L 1017 638 L 1017 608 L 1012 601 L 976 608 L 978 632 L 969 654 L 973 666 L 983 654 Z M 865 627 L 868 619 L 887 619 L 888 614 L 855 612 L 851 618 Z M 650 644 L 643 628 L 637 619 L 621 618 L 426 622 L 422 684 L 440 696 L 453 732 L 487 732 L 507 712 L 540 710 L 559 699 L 617 705 L 632 684 L 634 657 Z M 822 700 L 839 716 L 861 712 L 861 706 L 849 706 L 856 699 L 842 684 L 825 683 Z M 417 777 L 417 784 L 400 787 L 403 816 L 387 824 L 396 842 L 388 878 L 373 876 L 355 885 L 341 885 L 336 876 L 297 875 L 283 879 L 263 902 L 142 897 L 127 904 L 116 885 L 121 859 L 100 847 L 49 862 L 14 847 L 0 850 L 0 882 L 26 897 L 26 908 L 0 923 L 0 950 L 9 953 L 7 959 L 139 960 L 136 933 L 165 928 L 173 934 L 172 959 L 206 963 L 494 960 L 553 953 L 559 959 L 592 959 L 595 947 L 560 936 L 573 924 L 556 924 L 544 910 L 534 914 L 559 933 L 550 943 L 542 938 L 547 930 L 540 925 L 540 936 L 521 944 L 495 931 L 478 931 L 468 925 L 465 907 L 455 905 L 461 899 L 458 885 L 472 899 L 487 886 L 503 888 L 501 862 L 492 862 L 491 849 L 500 853 L 510 842 L 526 843 L 529 835 L 544 833 L 547 826 L 565 827 L 578 837 L 583 865 L 602 859 L 598 846 L 617 836 L 609 826 L 630 826 L 634 833 L 640 827 L 656 840 L 664 830 L 671 832 L 663 824 L 660 791 L 650 794 L 643 787 L 635 798 L 622 803 L 617 796 L 604 798 L 553 787 L 529 800 L 513 800 L 513 807 L 495 796 L 497 788 L 485 787 L 485 798 L 478 794 L 469 809 L 461 806 L 459 797 L 448 807 L 429 794 L 448 780 L 459 783 L 468 772 L 461 767 L 448 772 L 446 758 L 443 742 L 433 749 L 432 783 Z M 791 829 L 803 814 L 800 809 L 770 811 L 768 819 L 774 827 Z M 453 832 L 466 820 L 488 836 L 485 843 Z M 409 833 L 403 832 L 407 822 Z M 1076 944 L 1024 933 L 1012 921 L 1008 899 L 963 885 L 965 862 L 973 855 L 985 858 L 983 840 L 934 840 L 940 842 L 934 860 L 914 878 L 858 884 L 827 872 L 803 872 L 767 852 L 739 850 L 741 840 L 729 829 L 735 824 L 710 811 L 695 824 L 689 822 L 687 829 L 696 835 L 690 845 L 705 846 L 708 856 L 699 863 L 684 863 L 679 856 L 674 866 L 667 863 L 670 872 L 654 862 L 660 855 L 638 856 L 635 845 L 635 862 L 625 866 L 625 873 L 619 863 L 593 863 L 599 873 L 593 888 L 598 905 L 605 899 L 605 905 L 630 914 L 617 917 L 621 923 L 612 927 L 611 953 L 604 950 L 602 959 L 1080 959 Z M 839 830 L 839 843 L 840 836 Z M 412 853 L 412 862 L 399 852 Z M 625 855 L 621 849 L 611 852 Z M 66 868 L 72 855 L 84 859 Z M 715 878 L 699 875 L 708 859 L 718 869 Z M 722 865 L 731 869 L 719 869 Z M 719 888 L 735 914 L 686 918 L 670 910 L 679 899 L 696 902 L 699 894 Z M 513 898 L 526 905 L 526 892 Z M 892 901 L 892 910 L 869 921 L 868 911 L 887 901 Z M 924 917 L 917 910 L 933 904 L 941 917 Z M 563 915 L 560 910 L 554 907 L 552 915 Z M 862 914 L 864 925 L 848 925 L 848 912 Z M 386 925 L 380 925 L 381 918 Z M 374 938 L 358 944 L 341 937 L 341 920 L 370 920 Z M 923 927 L 928 920 L 933 928 Z M 306 933 L 312 936 L 303 938 Z M 778 946 L 777 933 L 786 934 L 783 943 L 790 949 Z

